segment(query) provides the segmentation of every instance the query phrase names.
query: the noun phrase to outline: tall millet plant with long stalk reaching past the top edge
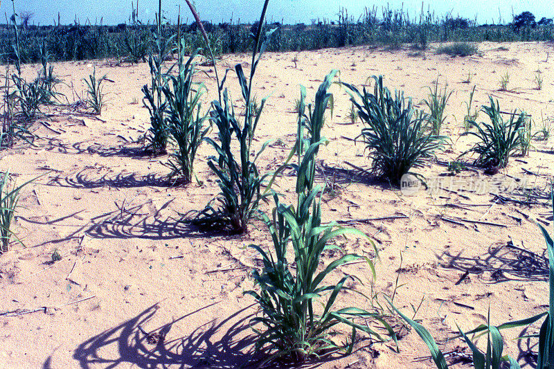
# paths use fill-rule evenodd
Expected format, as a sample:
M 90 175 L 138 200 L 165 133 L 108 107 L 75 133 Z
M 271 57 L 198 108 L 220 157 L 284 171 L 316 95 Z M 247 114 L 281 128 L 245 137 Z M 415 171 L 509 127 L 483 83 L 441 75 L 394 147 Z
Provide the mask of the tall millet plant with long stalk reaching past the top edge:
M 258 23 L 260 25 L 265 22 L 268 3 L 269 0 L 264 3 Z M 197 19 L 197 22 L 201 24 L 199 19 Z M 262 99 L 260 107 L 255 111 L 251 94 L 252 82 L 261 55 L 265 51 L 267 41 L 272 33 L 272 31 L 269 31 L 262 38 L 262 28 L 262 26 L 258 27 L 256 35 L 253 35 L 254 48 L 249 80 L 244 75 L 241 64 L 235 66 L 242 98 L 244 99 L 244 120 L 242 123 L 235 114 L 227 89 L 224 89 L 222 99 L 212 102 L 213 110 L 210 119 L 217 127 L 219 142 L 211 138 L 206 138 L 206 141 L 213 146 L 217 153 L 215 160 L 208 161 L 208 166 L 217 175 L 220 195 L 217 196 L 216 201 L 220 205 L 214 208 L 211 204 L 208 204 L 194 220 L 195 224 L 199 226 L 228 227 L 235 233 L 247 232 L 249 221 L 256 214 L 258 204 L 268 195 L 267 192 L 262 193 L 261 189 L 262 183 L 269 176 L 269 173 L 260 174 L 256 166 L 256 160 L 269 143 L 265 143 L 255 155 L 251 147 L 265 105 L 265 99 Z M 218 82 L 220 89 L 222 85 L 219 86 Z M 239 152 L 233 152 L 231 149 L 231 143 L 235 140 L 239 145 Z

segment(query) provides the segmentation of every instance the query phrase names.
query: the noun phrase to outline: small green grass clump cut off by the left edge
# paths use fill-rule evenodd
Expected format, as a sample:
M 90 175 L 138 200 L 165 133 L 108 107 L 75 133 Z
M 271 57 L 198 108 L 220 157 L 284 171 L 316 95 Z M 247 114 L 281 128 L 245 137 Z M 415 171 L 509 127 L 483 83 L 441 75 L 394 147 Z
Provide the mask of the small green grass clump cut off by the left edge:
M 14 236 L 12 221 L 19 201 L 19 192 L 29 183 L 10 186 L 10 182 L 9 172 L 0 175 L 0 255 L 8 251 L 10 247 L 10 240 Z M 15 238 L 17 239 L 17 237 Z M 19 239 L 17 241 L 21 243 Z

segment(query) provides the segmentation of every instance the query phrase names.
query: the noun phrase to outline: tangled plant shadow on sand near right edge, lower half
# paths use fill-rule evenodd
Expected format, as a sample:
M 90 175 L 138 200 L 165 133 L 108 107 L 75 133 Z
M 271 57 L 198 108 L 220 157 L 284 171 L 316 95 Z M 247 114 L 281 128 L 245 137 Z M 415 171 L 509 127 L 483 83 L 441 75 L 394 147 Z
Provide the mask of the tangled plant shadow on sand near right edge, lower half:
M 507 280 L 548 280 L 548 258 L 514 246 L 511 241 L 490 246 L 488 253 L 479 258 L 466 258 L 461 254 L 452 255 L 445 251 L 436 257 L 443 267 L 448 269 L 457 269 L 477 276 L 489 272 L 492 283 Z

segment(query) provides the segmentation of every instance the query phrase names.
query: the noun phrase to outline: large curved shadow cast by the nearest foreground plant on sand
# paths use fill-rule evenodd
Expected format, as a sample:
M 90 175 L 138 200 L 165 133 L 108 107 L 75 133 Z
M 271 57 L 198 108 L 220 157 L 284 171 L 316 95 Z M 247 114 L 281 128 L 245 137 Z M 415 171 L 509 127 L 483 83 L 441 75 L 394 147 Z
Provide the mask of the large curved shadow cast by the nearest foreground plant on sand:
M 252 314 L 248 311 L 250 307 L 222 321 L 213 320 L 201 325 L 189 336 L 166 339 L 172 335 L 173 325 L 194 325 L 195 313 L 215 304 L 146 332 L 148 321 L 159 309 L 157 304 L 152 305 L 129 321 L 78 345 L 73 359 L 80 363 L 81 368 L 112 368 L 125 363 L 139 368 L 237 368 L 248 365 L 256 359 L 253 353 L 256 336 L 248 325 Z M 49 361 L 50 358 L 44 363 L 44 368 L 50 367 Z

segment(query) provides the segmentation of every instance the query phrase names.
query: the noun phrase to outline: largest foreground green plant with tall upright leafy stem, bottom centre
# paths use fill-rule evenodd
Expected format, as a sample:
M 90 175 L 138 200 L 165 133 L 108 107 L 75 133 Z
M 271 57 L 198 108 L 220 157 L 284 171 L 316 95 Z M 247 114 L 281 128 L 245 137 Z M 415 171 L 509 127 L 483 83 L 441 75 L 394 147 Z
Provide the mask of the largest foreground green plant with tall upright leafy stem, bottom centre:
M 345 350 L 352 352 L 357 330 L 366 332 L 378 340 L 382 340 L 368 323 L 379 323 L 389 334 L 393 331 L 379 314 L 368 312 L 357 307 L 336 305 L 342 291 L 346 291 L 348 280 L 358 280 L 355 276 L 342 276 L 336 284 L 326 285 L 330 274 L 339 266 L 354 260 L 365 260 L 375 274 L 373 262 L 361 255 L 348 254 L 327 264 L 322 269 L 323 251 L 338 249 L 328 241 L 338 235 L 353 233 L 366 237 L 364 233 L 352 228 L 341 228 L 321 224 L 321 188 L 314 185 L 316 173 L 316 155 L 319 147 L 326 140 L 321 137 L 323 116 L 328 106 L 330 94 L 327 92 L 333 76 L 333 71 L 319 87 L 316 93 L 314 107 L 308 107 L 305 114 L 305 89 L 301 89 L 301 106 L 298 112 L 298 135 L 293 149 L 298 156 L 296 196 L 297 204 L 287 206 L 280 202 L 274 194 L 275 208 L 272 219 L 265 217 L 265 222 L 271 233 L 271 251 L 258 245 L 252 245 L 260 253 L 263 260 L 261 271 L 254 270 L 252 276 L 258 285 L 258 291 L 247 291 L 256 298 L 261 307 L 262 316 L 251 320 L 251 325 L 263 325 L 265 330 L 258 330 L 257 350 L 266 350 L 269 357 L 260 367 L 272 361 L 290 360 L 301 364 L 305 359 L 317 356 L 321 352 L 336 352 Z M 289 245 L 292 244 L 292 260 L 289 258 Z M 371 242 L 375 249 L 375 244 Z M 377 249 L 375 249 L 377 252 Z M 324 297 L 323 294 L 329 292 Z M 320 308 L 321 305 L 321 308 Z M 361 325 L 357 320 L 364 319 Z M 336 325 L 346 325 L 352 332 L 350 343 L 337 343 L 332 340 L 330 330 Z

